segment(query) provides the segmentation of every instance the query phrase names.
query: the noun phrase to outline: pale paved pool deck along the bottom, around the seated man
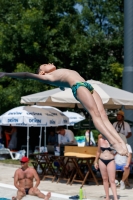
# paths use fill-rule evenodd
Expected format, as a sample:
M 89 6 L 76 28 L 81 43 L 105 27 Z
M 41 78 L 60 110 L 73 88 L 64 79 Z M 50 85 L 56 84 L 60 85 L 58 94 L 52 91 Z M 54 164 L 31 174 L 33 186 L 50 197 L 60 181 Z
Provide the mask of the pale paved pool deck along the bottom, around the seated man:
M 0 198 L 11 199 L 12 196 L 16 195 L 16 188 L 13 185 L 13 176 L 16 169 L 19 166 L 15 165 L 6 165 L 0 163 Z M 133 179 L 129 180 L 131 187 L 126 188 L 125 190 L 120 190 L 117 188 L 118 198 L 120 200 L 131 200 L 133 199 Z M 41 181 L 38 187 L 44 194 L 51 192 L 52 196 L 50 200 L 63 200 L 69 199 L 70 196 L 79 194 L 80 184 L 74 183 L 72 186 L 66 185 L 66 182 L 51 182 L 51 180 L 46 179 Z M 100 185 L 97 186 L 94 183 L 85 185 L 83 187 L 86 191 L 87 200 L 104 200 L 104 189 L 103 185 L 100 182 Z M 23 198 L 24 200 L 37 200 L 39 198 L 27 195 Z M 113 200 L 112 192 L 110 190 L 110 199 Z

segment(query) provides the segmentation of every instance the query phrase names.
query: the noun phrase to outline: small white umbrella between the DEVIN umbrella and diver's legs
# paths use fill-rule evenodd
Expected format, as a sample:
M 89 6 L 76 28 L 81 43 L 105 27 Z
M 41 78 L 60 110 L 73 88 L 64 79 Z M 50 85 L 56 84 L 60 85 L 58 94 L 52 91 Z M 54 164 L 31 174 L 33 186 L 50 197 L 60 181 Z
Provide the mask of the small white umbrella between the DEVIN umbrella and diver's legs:
M 67 110 L 63 113 L 69 118 L 69 124 L 67 124 L 67 126 L 74 126 L 75 123 L 85 119 L 85 117 L 76 112 L 70 112 Z

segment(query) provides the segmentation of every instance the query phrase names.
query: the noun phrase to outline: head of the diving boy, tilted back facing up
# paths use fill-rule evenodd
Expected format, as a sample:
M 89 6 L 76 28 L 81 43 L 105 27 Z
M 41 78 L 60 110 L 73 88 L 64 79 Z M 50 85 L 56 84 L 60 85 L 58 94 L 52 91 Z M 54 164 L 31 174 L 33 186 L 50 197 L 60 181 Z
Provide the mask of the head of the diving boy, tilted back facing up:
M 56 67 L 53 64 L 49 63 L 49 64 L 40 65 L 36 73 L 39 75 L 45 75 L 46 73 L 50 73 L 55 70 L 56 70 Z

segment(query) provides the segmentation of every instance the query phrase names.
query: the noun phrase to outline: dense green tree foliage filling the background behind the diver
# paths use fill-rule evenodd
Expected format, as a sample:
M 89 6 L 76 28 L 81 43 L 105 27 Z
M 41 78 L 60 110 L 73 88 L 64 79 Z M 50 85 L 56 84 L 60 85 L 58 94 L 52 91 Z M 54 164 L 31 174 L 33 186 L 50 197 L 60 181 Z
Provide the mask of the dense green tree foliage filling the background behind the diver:
M 123 0 L 1 0 L 0 10 L 0 71 L 34 73 L 51 62 L 121 87 Z M 50 88 L 2 78 L 0 114 Z

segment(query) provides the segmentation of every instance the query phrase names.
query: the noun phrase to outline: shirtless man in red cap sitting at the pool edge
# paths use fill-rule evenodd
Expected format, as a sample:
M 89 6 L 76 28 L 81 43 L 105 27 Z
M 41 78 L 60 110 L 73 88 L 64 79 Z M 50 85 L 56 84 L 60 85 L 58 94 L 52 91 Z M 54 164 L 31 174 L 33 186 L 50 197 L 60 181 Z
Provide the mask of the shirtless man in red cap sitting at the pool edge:
M 17 196 L 12 197 L 12 200 L 20 200 L 27 194 L 37 196 L 44 200 L 48 200 L 51 197 L 51 193 L 48 192 L 47 195 L 44 195 L 37 188 L 40 184 L 40 179 L 38 177 L 35 169 L 28 166 L 29 159 L 23 157 L 21 162 L 21 168 L 17 169 L 14 175 L 14 185 L 18 189 Z M 33 185 L 33 179 L 35 178 L 36 183 Z

